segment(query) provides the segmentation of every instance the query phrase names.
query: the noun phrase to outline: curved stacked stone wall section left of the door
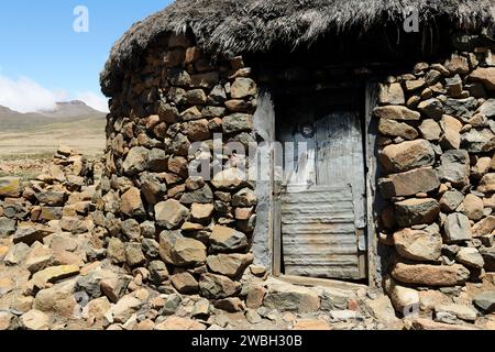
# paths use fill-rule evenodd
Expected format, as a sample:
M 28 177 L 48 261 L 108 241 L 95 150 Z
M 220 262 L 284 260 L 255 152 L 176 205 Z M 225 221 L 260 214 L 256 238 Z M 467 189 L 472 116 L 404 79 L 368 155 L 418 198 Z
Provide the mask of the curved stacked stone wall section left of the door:
M 179 35 L 162 37 L 144 55 L 140 70 L 127 72 L 108 120 L 95 217 L 108 231 L 108 255 L 147 267 L 162 292 L 199 293 L 237 310 L 239 279 L 253 262 L 257 201 L 254 184 L 233 168 L 245 158 L 213 155 L 213 134 L 223 143 L 255 141 L 251 69 L 241 57 L 215 63 Z M 189 155 L 195 142 L 202 148 Z M 221 164 L 221 172 L 189 177 L 201 161 Z

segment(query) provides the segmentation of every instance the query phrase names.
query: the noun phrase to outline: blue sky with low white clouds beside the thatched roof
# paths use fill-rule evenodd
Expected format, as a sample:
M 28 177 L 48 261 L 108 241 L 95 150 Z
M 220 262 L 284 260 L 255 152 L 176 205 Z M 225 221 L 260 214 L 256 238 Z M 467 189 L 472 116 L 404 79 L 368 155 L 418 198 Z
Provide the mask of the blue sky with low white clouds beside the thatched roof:
M 28 111 L 47 108 L 50 100 L 79 98 L 101 109 L 98 77 L 111 45 L 134 22 L 170 2 L 1 1 L 0 105 Z M 88 9 L 87 33 L 73 29 L 77 6 Z

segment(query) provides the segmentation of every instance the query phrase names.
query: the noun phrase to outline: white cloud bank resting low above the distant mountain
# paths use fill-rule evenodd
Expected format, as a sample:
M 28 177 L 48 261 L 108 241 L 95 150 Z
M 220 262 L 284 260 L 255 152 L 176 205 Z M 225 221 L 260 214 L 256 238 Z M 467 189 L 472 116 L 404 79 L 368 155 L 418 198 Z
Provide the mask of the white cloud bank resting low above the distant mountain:
M 25 77 L 13 80 L 0 75 L 0 106 L 19 112 L 54 110 L 55 103 L 67 97 L 67 92 L 52 91 Z

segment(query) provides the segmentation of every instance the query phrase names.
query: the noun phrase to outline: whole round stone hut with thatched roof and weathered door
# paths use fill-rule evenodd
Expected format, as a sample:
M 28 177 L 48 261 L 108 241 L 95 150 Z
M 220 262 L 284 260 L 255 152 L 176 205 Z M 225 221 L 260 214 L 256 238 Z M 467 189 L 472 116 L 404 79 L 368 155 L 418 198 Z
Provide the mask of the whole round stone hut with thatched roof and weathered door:
M 494 23 L 486 0 L 178 0 L 134 24 L 101 74 L 109 256 L 231 304 L 246 271 L 399 314 L 495 284 Z

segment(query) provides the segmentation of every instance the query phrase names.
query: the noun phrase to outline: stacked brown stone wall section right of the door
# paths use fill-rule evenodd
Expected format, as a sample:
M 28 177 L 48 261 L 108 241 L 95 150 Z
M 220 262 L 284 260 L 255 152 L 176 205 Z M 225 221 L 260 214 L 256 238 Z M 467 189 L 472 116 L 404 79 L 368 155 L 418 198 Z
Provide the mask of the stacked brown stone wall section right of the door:
M 495 271 L 494 98 L 488 47 L 381 85 L 381 240 L 395 248 L 387 288 L 400 312 L 417 289 L 458 295 Z

